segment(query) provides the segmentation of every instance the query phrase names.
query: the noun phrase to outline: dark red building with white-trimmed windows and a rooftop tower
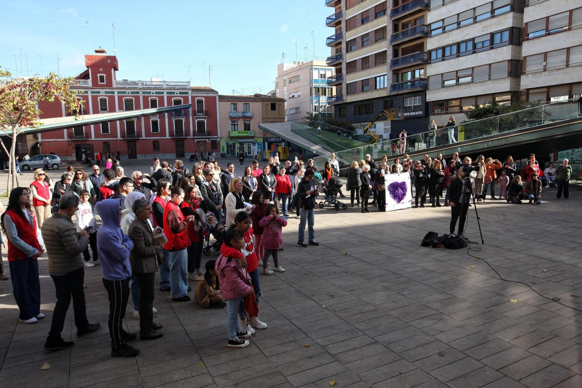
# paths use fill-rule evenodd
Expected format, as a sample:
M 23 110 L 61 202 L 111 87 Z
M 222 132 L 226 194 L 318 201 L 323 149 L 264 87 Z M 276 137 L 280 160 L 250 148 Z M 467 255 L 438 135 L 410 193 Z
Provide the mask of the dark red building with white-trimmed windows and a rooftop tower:
M 83 151 L 116 153 L 122 158 L 184 157 L 193 151 L 218 150 L 218 92 L 190 82 L 151 79 L 118 80 L 118 59 L 105 50 L 85 55 L 84 72 L 74 89 L 83 100 L 81 115 L 132 111 L 169 105 L 192 104 L 191 109 L 112 121 L 100 125 L 78 125 L 66 130 L 43 132 L 31 145 L 31 154 L 54 152 L 65 160 L 79 159 Z M 42 101 L 41 118 L 73 115 L 60 101 Z M 39 147 L 40 146 L 40 147 Z M 34 152 L 32 150 L 34 149 Z

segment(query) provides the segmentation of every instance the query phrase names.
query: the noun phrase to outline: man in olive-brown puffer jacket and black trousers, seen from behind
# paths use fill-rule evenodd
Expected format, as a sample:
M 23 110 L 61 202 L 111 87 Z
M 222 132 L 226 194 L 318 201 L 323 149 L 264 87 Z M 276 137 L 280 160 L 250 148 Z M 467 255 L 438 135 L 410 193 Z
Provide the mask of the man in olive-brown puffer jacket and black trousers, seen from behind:
M 61 337 L 71 298 L 77 337 L 84 337 L 101 327 L 100 323 L 92 324 L 87 319 L 83 288 L 85 271 L 81 252 L 89 245 L 89 235 L 86 231 L 77 234 L 75 230 L 71 217 L 78 208 L 79 197 L 74 194 L 63 195 L 59 212 L 45 220 L 41 228 L 48 254 L 48 273 L 56 291 L 51 331 L 44 344 L 47 350 L 66 349 L 74 345 L 73 341 L 65 341 Z

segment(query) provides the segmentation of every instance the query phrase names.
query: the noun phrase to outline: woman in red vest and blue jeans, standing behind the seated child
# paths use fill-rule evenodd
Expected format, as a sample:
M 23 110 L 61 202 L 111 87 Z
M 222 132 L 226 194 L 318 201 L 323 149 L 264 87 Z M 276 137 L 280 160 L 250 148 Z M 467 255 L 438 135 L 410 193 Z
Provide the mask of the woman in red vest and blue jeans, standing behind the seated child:
M 164 249 L 168 251 L 166 262 L 170 266 L 170 288 L 172 300 L 187 302 L 188 296 L 188 252 L 190 238 L 188 225 L 194 216 L 184 217 L 180 204 L 184 200 L 184 191 L 180 187 L 172 189 L 172 198 L 164 209 L 164 234 L 168 242 Z

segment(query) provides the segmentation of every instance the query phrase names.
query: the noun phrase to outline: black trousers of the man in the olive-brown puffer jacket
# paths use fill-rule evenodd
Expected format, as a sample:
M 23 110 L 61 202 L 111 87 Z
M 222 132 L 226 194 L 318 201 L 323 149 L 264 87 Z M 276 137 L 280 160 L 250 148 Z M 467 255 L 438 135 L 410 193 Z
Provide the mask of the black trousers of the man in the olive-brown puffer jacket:
M 56 341 L 61 338 L 71 298 L 73 298 L 74 324 L 77 329 L 84 329 L 89 324 L 85 306 L 85 291 L 83 290 L 85 269 L 81 267 L 64 275 L 51 275 L 51 278 L 55 283 L 56 304 L 52 313 L 51 331 L 48 333 L 48 339 Z

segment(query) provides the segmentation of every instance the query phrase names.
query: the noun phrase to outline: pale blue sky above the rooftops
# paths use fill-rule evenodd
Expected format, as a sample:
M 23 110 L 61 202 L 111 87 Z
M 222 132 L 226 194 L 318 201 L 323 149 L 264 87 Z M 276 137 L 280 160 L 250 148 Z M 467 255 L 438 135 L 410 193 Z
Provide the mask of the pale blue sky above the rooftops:
M 273 89 L 276 66 L 285 52 L 286 62 L 330 54 L 325 38 L 333 29 L 325 17 L 333 9 L 324 0 L 234 0 L 214 1 L 11 1 L 4 2 L 0 35 L 3 40 L 0 66 L 26 75 L 57 71 L 75 76 L 84 69 L 88 52 L 88 22 L 91 52 L 101 46 L 108 54 L 115 45 L 119 60 L 118 79 L 160 79 L 211 86 L 222 94 L 232 90 L 250 94 Z M 304 45 L 308 45 L 305 58 Z M 16 65 L 13 53 L 16 53 Z M 39 57 L 38 55 L 41 55 Z M 205 63 L 203 73 L 203 62 Z M 204 78 L 203 78 L 204 74 Z

